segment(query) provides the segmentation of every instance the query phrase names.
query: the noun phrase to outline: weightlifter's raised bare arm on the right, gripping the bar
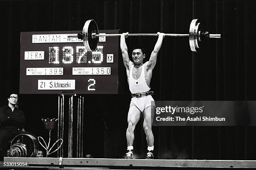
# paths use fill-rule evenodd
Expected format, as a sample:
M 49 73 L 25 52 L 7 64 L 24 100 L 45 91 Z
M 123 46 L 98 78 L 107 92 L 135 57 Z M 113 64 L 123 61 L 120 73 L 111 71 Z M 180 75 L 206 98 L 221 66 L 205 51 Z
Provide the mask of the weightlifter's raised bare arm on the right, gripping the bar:
M 156 42 L 156 45 L 154 47 L 154 50 L 151 52 L 151 55 L 150 55 L 150 58 L 149 58 L 149 61 L 147 63 L 147 69 L 151 69 L 153 70 L 155 65 L 156 65 L 156 59 L 157 59 L 157 54 L 161 48 L 161 45 L 162 45 L 162 41 L 163 41 L 163 37 L 164 37 L 164 33 L 160 33 L 160 32 L 157 32 L 158 34 L 158 40 Z

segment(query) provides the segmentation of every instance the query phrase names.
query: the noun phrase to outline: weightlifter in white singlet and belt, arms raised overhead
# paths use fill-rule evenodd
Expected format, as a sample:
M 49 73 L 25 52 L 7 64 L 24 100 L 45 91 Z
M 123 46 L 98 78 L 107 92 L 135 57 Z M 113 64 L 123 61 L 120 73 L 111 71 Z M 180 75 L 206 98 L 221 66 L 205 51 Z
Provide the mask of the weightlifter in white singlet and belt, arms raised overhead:
M 164 33 L 158 32 L 158 40 L 151 52 L 149 61 L 143 64 L 143 59 L 146 57 L 145 51 L 141 47 L 133 48 L 132 59 L 129 59 L 128 48 L 125 43 L 125 38 L 128 37 L 128 33 L 123 33 L 120 38 L 120 48 L 123 56 L 123 63 L 126 68 L 126 74 L 128 78 L 129 89 L 132 93 L 132 99 L 130 108 L 128 111 L 128 128 L 126 130 L 127 139 L 127 153 L 125 159 L 134 159 L 133 155 L 133 140 L 134 129 L 136 124 L 143 115 L 143 128 L 146 133 L 146 140 L 148 143 L 148 153 L 146 159 L 154 159 L 154 135 L 152 133 L 152 122 L 155 112 L 154 99 L 151 95 L 154 92 L 150 90 L 150 81 L 152 77 L 152 71 L 156 65 L 157 54 L 161 48 Z

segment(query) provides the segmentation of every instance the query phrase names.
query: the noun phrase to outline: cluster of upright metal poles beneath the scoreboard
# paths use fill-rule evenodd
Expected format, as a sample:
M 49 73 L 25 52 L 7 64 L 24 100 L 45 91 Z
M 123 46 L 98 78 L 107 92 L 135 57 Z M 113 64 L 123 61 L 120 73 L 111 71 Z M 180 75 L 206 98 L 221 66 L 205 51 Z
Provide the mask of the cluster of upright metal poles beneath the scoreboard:
M 69 111 L 68 111 L 68 158 L 73 157 L 73 104 L 74 100 L 77 99 L 77 153 L 76 158 L 82 158 L 83 157 L 83 114 L 84 114 L 84 97 L 72 95 L 67 96 L 69 101 Z M 59 104 L 59 110 L 58 110 L 58 138 L 62 138 L 64 140 L 64 95 L 59 95 L 58 97 L 58 104 Z M 67 123 L 66 123 L 67 124 Z M 64 157 L 64 145 L 61 146 L 61 149 L 58 150 L 58 157 Z

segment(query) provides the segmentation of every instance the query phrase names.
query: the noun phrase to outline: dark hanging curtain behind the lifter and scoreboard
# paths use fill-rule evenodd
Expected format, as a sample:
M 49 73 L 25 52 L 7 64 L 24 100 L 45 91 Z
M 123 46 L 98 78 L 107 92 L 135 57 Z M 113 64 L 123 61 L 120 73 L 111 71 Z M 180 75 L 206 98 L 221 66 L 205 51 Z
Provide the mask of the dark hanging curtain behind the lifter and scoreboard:
M 1 106 L 7 104 L 10 92 L 19 89 L 20 32 L 82 30 L 89 19 L 96 20 L 100 30 L 187 34 L 191 20 L 199 18 L 205 30 L 221 34 L 221 39 L 205 41 L 200 52 L 193 53 L 187 37 L 165 37 L 151 79 L 154 99 L 255 100 L 256 1 L 36 0 L 0 1 L 0 8 Z M 156 40 L 129 37 L 129 54 L 133 46 L 142 45 L 148 60 Z M 126 75 L 121 76 L 124 90 L 119 95 L 84 95 L 84 155 L 122 158 L 126 151 L 131 97 Z M 41 118 L 57 117 L 57 101 L 57 95 L 20 95 L 26 130 L 47 137 Z M 162 126 L 153 127 L 153 132 L 157 159 L 256 159 L 253 126 Z M 52 133 L 55 139 L 56 133 Z M 145 137 L 139 122 L 134 141 L 137 158 L 145 158 Z

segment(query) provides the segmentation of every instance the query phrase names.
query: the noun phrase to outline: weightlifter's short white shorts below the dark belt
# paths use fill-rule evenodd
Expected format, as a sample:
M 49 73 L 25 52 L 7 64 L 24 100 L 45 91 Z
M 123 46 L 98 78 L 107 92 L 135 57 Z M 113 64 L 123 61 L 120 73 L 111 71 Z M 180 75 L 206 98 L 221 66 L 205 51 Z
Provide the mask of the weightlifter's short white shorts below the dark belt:
M 154 99 L 151 95 L 142 96 L 142 97 L 139 97 L 139 98 L 133 97 L 131 99 L 130 106 L 131 105 L 135 105 L 138 108 L 138 110 L 140 110 L 142 113 L 143 113 L 144 109 L 148 106 L 155 106 L 156 107 L 155 101 L 154 101 Z

